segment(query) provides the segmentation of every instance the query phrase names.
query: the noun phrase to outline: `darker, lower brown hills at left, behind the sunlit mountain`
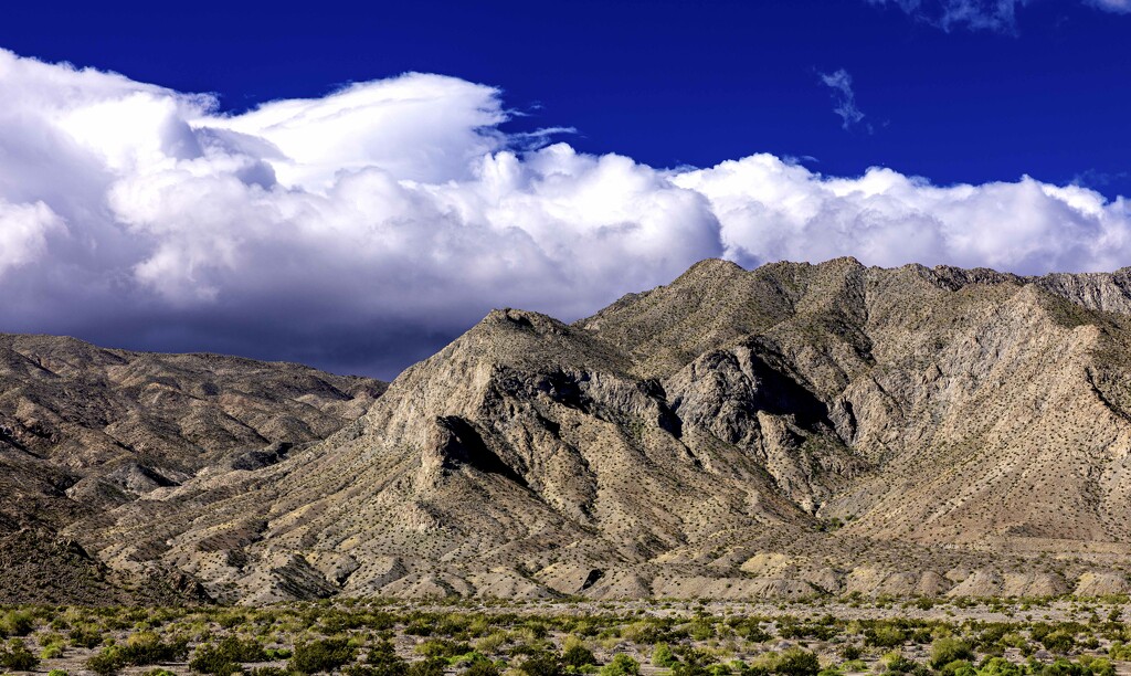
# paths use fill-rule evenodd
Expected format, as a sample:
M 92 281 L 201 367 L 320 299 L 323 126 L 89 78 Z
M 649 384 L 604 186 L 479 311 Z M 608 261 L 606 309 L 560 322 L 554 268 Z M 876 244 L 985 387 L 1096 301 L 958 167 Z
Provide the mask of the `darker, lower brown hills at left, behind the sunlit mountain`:
M 276 462 L 355 419 L 385 387 L 296 364 L 0 335 L 0 598 L 192 592 L 176 573 L 133 584 L 58 530 L 200 473 Z

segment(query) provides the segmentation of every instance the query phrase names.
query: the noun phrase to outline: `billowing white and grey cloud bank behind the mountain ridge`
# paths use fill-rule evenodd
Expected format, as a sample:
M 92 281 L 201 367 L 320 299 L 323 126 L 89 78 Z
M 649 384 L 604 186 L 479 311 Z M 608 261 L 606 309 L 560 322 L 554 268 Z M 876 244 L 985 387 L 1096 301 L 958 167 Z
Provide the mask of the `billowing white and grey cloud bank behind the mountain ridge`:
M 493 306 L 575 319 L 707 257 L 1131 261 L 1129 203 L 1085 188 L 521 149 L 499 89 L 435 75 L 225 115 L 0 51 L 0 99 L 6 331 L 388 376 Z

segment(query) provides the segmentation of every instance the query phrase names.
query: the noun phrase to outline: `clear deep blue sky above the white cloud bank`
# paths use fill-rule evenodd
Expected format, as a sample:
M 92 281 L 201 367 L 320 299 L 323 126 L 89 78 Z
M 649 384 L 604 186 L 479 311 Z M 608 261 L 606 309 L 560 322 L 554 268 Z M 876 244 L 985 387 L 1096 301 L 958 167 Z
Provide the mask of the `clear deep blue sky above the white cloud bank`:
M 996 0 L 973 5 L 1000 16 Z M 1015 24 L 943 29 L 946 3 L 908 16 L 865 0 L 9 3 L 0 45 L 215 92 L 235 111 L 451 75 L 501 87 L 528 114 L 512 129 L 571 127 L 580 150 L 655 166 L 774 153 L 828 174 L 1131 193 L 1131 15 L 1016 5 Z M 820 79 L 839 69 L 865 115 L 848 130 Z

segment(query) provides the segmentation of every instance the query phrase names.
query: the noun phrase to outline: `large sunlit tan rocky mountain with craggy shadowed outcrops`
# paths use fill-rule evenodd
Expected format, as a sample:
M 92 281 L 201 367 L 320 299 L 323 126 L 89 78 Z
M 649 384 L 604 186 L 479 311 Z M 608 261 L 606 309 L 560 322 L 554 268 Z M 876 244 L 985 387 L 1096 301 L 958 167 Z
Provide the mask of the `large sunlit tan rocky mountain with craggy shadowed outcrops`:
M 1126 591 L 1129 289 L 703 261 L 492 312 L 325 442 L 70 532 L 247 603 Z

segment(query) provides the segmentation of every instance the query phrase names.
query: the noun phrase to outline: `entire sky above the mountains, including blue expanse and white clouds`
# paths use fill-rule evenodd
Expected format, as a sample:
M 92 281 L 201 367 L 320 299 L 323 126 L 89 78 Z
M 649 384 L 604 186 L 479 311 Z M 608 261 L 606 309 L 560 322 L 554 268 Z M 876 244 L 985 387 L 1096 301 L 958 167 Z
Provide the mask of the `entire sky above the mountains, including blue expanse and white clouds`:
M 1131 265 L 1131 0 L 9 3 L 0 331 L 383 378 L 697 260 Z

